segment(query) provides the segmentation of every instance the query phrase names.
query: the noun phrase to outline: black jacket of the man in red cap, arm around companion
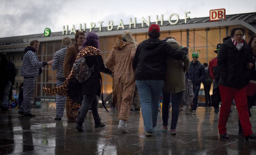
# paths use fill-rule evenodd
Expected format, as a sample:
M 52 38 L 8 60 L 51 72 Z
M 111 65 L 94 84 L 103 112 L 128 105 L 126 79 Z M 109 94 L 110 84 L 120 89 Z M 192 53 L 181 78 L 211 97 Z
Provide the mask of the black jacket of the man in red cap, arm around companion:
M 136 69 L 135 80 L 164 80 L 167 56 L 179 60 L 186 55 L 186 48 L 177 51 L 158 38 L 149 38 L 137 47 L 133 62 L 133 68 Z

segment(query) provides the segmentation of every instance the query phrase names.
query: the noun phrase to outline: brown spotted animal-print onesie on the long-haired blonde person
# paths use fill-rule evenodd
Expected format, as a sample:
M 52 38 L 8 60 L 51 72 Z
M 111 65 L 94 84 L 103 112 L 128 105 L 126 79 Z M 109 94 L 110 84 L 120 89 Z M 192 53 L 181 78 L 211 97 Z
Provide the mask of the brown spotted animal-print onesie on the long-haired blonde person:
M 119 120 L 127 121 L 135 88 L 135 71 L 132 67 L 136 47 L 133 43 L 124 42 L 122 35 L 117 38 L 106 66 L 114 73 L 114 92 L 117 94 L 117 107 Z

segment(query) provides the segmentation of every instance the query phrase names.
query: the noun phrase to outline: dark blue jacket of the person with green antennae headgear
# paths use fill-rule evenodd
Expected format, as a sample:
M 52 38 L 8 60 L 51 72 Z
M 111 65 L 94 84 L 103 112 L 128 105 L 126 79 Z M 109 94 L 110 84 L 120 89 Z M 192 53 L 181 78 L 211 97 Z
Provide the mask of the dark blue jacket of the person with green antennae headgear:
M 206 73 L 204 66 L 198 61 L 193 63 L 193 61 L 189 64 L 189 69 L 186 73 L 186 78 L 191 80 L 194 85 L 201 84 L 206 78 Z

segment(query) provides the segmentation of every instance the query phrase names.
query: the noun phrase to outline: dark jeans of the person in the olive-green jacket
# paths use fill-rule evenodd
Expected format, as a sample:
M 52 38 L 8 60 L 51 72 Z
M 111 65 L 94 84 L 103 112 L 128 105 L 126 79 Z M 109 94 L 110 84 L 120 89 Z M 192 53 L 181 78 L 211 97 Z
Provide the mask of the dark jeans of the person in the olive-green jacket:
M 168 118 L 169 118 L 169 102 L 170 102 L 171 93 L 163 92 L 163 105 L 162 105 L 162 119 L 163 125 L 168 126 Z M 179 108 L 181 102 L 182 92 L 178 92 L 172 94 L 172 122 L 171 122 L 171 130 L 176 129 L 178 117 L 179 117 Z

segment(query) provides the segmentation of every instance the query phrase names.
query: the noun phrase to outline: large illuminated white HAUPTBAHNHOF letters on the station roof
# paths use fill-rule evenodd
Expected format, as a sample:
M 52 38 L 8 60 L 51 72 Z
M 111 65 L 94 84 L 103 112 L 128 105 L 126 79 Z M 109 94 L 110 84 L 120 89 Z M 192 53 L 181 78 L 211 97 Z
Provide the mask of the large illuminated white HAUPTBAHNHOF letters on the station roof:
M 188 12 L 185 12 L 185 18 L 184 18 L 184 22 L 185 22 L 185 24 L 187 23 L 187 19 L 189 19 L 190 17 L 188 17 L 188 14 L 190 14 L 190 12 L 188 11 Z M 176 20 L 172 20 L 172 17 L 176 17 Z M 173 13 L 173 14 L 170 14 L 169 15 L 169 18 L 168 18 L 168 20 L 169 20 L 169 23 L 171 24 L 171 25 L 175 25 L 175 24 L 177 24 L 178 22 L 179 22 L 179 15 L 178 14 L 175 14 L 175 13 Z M 159 22 L 160 22 L 160 26 L 163 26 L 163 21 L 164 21 L 164 15 L 162 14 L 160 17 L 158 17 L 158 15 L 156 15 L 156 24 L 158 24 Z M 142 17 L 142 20 L 141 20 L 141 27 L 143 28 L 143 27 L 146 27 L 146 26 L 150 26 L 150 16 L 148 16 L 147 17 L 147 19 L 146 18 L 144 18 L 144 17 Z M 101 32 L 101 28 L 102 28 L 102 23 L 103 23 L 103 21 L 99 21 L 98 22 L 99 23 L 99 31 Z M 112 21 L 112 20 L 109 20 L 108 22 L 107 22 L 107 31 L 112 31 L 113 30 L 113 24 L 114 24 L 114 22 Z M 134 19 L 132 19 L 132 18 L 130 18 L 130 22 L 129 22 L 129 29 L 131 29 L 131 28 L 136 28 L 136 24 L 137 24 L 137 18 L 134 18 Z M 84 29 L 83 29 L 84 28 Z M 95 22 L 91 22 L 90 23 L 90 32 L 92 31 L 92 29 L 93 28 L 96 28 L 96 23 Z M 123 20 L 122 19 L 120 19 L 120 22 L 119 22 L 119 24 L 117 25 L 117 28 L 116 28 L 116 30 L 124 30 L 125 29 L 125 27 L 124 27 L 124 23 L 123 23 Z M 79 27 L 79 31 L 85 31 L 86 30 L 86 23 L 84 23 L 84 24 L 80 24 L 80 27 Z M 75 29 L 75 25 L 72 25 L 72 28 L 71 28 L 71 30 L 70 30 L 70 32 L 68 33 L 68 31 L 69 31 L 69 27 L 68 27 L 68 25 L 64 25 L 63 26 L 63 29 L 62 29 L 62 35 L 71 35 L 71 34 L 75 34 L 75 32 L 76 32 L 76 29 Z

